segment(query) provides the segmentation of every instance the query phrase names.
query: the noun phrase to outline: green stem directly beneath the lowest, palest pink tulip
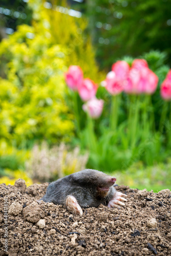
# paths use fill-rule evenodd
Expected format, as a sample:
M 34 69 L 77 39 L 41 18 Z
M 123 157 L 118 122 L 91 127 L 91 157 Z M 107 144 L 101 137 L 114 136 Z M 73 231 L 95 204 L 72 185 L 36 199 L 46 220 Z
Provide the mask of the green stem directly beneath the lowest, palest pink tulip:
M 88 144 L 92 152 L 97 152 L 97 139 L 94 132 L 94 120 L 87 114 Z

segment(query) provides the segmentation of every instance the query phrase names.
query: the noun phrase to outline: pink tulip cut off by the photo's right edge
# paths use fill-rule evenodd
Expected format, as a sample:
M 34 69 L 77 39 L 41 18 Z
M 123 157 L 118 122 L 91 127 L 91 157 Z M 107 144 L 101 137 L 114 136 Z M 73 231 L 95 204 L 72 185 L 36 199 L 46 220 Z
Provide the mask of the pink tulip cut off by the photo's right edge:
M 171 100 L 171 70 L 161 84 L 160 94 L 163 99 Z

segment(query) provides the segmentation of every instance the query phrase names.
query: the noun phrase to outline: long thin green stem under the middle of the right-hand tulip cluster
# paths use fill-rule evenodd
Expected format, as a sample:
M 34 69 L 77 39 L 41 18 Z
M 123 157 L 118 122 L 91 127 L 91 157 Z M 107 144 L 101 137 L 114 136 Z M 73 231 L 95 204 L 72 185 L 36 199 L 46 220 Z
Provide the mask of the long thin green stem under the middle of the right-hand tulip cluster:
M 139 96 L 135 97 L 135 100 L 133 102 L 133 117 L 132 117 L 132 136 L 131 136 L 131 148 L 135 147 L 136 141 L 137 141 L 137 125 L 138 125 L 138 119 L 139 119 Z

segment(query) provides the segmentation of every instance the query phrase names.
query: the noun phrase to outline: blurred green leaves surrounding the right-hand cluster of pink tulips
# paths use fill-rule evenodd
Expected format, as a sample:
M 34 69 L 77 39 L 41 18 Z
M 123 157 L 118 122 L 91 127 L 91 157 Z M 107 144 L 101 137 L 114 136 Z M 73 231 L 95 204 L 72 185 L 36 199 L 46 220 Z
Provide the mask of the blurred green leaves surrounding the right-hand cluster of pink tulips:
M 145 166 L 152 166 L 160 162 L 165 162 L 170 157 L 170 112 L 167 111 L 165 120 L 163 120 L 162 129 L 159 128 L 164 100 L 160 96 L 160 86 L 169 70 L 164 65 L 167 55 L 164 52 L 150 51 L 138 58 L 147 60 L 151 68 L 159 77 L 157 91 L 151 95 L 130 96 L 122 93 L 119 95 L 120 105 L 118 109 L 118 125 L 115 131 L 110 131 L 110 112 L 112 96 L 104 87 L 99 87 L 97 97 L 104 100 L 104 110 L 99 119 L 93 120 L 93 131 L 89 129 L 89 123 L 84 125 L 81 134 L 82 148 L 89 148 L 90 157 L 89 168 L 96 168 L 102 172 L 113 170 L 125 170 L 136 162 L 142 161 Z M 123 57 L 130 65 L 134 58 Z M 138 105 L 137 105 L 138 102 Z M 170 108 L 170 102 L 167 103 Z M 129 125 L 130 108 L 133 113 L 138 108 L 138 120 L 134 122 L 134 114 Z M 81 109 L 81 105 L 79 107 Z M 148 131 L 144 130 L 144 113 Z M 83 113 L 81 117 L 83 117 Z M 84 117 L 85 118 L 85 117 Z M 134 129 L 136 126 L 136 129 Z M 134 130 L 134 133 L 132 132 Z M 135 131 L 136 130 L 136 131 Z M 130 132 L 131 131 L 131 135 Z M 92 136 L 92 137 L 91 137 Z M 134 141 L 134 146 L 130 143 Z M 94 144 L 92 143 L 94 142 Z

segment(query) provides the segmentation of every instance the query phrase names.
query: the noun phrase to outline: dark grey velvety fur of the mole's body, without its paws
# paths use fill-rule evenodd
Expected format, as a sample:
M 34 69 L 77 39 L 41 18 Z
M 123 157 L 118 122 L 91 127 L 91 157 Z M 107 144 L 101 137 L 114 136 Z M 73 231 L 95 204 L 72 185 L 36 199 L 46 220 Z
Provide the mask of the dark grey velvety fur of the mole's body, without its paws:
M 85 169 L 71 174 L 57 181 L 51 182 L 46 195 L 40 200 L 65 205 L 69 195 L 77 199 L 81 207 L 98 207 L 100 204 L 108 205 L 114 197 L 116 190 L 110 183 L 110 176 L 98 170 Z M 100 193 L 98 188 L 109 188 L 107 193 Z

